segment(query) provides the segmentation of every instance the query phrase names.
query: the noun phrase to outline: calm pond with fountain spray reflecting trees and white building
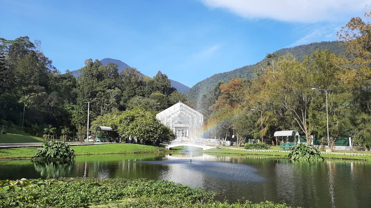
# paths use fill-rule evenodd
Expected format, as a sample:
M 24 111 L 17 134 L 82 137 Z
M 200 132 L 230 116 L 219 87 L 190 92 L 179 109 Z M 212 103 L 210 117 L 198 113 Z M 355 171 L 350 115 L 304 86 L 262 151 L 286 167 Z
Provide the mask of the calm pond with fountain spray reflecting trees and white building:
M 0 180 L 97 177 L 169 180 L 222 192 L 229 201 L 300 207 L 370 207 L 371 162 L 299 162 L 264 156 L 179 153 L 78 156 L 73 165 L 0 161 Z

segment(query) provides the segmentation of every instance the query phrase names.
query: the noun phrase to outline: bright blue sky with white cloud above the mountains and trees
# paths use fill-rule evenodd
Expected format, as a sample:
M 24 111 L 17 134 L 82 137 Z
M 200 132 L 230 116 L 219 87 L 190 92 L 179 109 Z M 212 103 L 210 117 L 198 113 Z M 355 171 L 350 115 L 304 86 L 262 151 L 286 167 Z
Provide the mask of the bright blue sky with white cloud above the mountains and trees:
M 367 0 L 0 0 L 0 37 L 29 36 L 62 73 L 115 58 L 192 87 L 266 53 L 337 40 Z

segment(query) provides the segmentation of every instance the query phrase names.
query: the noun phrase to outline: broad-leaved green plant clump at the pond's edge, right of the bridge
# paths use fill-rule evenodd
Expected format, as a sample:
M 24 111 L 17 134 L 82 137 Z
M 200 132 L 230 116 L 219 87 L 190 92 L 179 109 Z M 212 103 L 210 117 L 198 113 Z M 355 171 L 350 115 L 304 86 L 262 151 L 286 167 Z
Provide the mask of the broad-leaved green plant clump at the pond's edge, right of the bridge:
M 297 144 L 293 146 L 289 152 L 288 158 L 290 160 L 303 160 L 303 161 L 323 161 L 324 157 L 321 156 L 318 148 L 311 147 L 308 144 Z

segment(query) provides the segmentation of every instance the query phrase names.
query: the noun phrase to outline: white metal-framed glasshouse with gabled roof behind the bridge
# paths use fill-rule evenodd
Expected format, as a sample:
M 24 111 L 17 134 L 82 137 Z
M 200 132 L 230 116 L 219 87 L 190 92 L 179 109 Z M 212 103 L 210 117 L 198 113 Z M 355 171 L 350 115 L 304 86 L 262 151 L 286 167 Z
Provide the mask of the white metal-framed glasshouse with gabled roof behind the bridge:
M 203 134 L 204 116 L 181 101 L 158 113 L 156 118 L 170 127 L 177 138 L 196 138 Z

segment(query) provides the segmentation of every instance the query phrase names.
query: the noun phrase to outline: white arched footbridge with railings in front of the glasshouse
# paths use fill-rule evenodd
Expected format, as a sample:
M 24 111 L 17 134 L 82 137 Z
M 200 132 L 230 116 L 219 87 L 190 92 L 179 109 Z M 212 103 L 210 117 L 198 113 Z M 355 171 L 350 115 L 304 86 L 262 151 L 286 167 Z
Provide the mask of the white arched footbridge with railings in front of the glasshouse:
M 221 141 L 224 142 L 224 141 Z M 216 148 L 216 145 L 221 144 L 220 140 L 209 139 L 209 138 L 190 138 L 190 137 L 180 137 L 175 140 L 169 141 L 165 148 L 169 149 L 171 147 L 178 146 L 191 146 L 202 148 L 203 150 L 209 150 Z M 230 145 L 230 141 L 225 141 L 224 145 Z

